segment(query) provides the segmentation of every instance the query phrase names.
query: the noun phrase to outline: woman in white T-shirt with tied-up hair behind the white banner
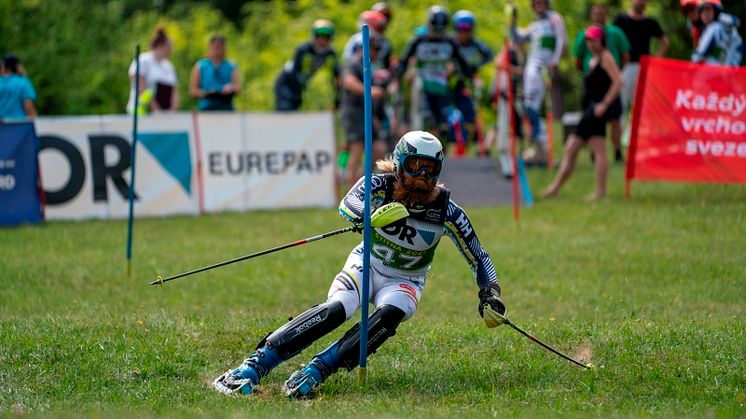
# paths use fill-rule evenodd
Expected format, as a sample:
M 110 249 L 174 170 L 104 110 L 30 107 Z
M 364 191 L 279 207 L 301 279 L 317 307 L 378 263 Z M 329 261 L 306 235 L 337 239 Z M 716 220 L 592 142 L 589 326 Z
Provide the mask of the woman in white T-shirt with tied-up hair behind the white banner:
M 176 70 L 168 57 L 173 51 L 171 38 L 166 30 L 158 27 L 150 39 L 150 51 L 140 54 L 140 95 L 138 113 L 176 111 L 179 108 L 179 89 L 176 85 Z M 132 60 L 129 68 L 131 80 L 127 112 L 134 112 L 135 67 Z

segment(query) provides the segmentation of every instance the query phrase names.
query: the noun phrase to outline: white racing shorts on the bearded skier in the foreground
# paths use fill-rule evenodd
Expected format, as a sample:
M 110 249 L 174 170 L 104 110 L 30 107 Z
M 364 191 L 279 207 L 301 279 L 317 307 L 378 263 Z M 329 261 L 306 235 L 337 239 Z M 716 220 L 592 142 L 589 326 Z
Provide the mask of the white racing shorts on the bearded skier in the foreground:
M 377 266 L 371 259 L 368 298 L 376 308 L 392 305 L 404 311 L 408 320 L 417 310 L 422 293 L 425 291 L 426 273 L 405 272 L 385 266 Z M 347 257 L 342 270 L 334 277 L 329 293 L 329 301 L 339 301 L 344 305 L 349 319 L 360 307 L 360 294 L 363 283 L 362 245 L 356 247 Z

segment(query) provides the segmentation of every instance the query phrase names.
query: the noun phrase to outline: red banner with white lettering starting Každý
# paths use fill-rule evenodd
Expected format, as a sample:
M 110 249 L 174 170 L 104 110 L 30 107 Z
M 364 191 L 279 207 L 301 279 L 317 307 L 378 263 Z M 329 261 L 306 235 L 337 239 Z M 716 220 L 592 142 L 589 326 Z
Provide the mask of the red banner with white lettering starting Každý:
M 746 183 L 746 68 L 643 57 L 627 182 Z

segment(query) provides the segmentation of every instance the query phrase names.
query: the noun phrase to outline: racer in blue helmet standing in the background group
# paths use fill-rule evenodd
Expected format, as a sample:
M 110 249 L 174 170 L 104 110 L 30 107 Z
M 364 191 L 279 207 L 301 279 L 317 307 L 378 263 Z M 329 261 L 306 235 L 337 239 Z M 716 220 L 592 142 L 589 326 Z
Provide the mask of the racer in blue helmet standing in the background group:
M 494 57 L 492 50 L 484 42 L 474 38 L 474 27 L 477 18 L 469 10 L 459 10 L 453 14 L 453 26 L 456 30 L 456 43 L 459 52 L 469 66 L 471 77 L 459 75 L 454 92 L 456 107 L 464 118 L 464 138 L 473 141 L 476 131 L 477 107 L 482 90 L 482 80 L 479 79 L 477 70 L 479 67 L 489 63 Z

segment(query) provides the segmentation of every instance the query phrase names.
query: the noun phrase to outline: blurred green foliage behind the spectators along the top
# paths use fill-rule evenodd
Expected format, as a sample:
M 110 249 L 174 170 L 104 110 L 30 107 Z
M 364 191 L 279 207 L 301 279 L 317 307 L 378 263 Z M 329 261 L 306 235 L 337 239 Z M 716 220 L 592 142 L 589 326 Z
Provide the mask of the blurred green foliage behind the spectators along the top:
M 312 22 L 320 17 L 337 26 L 334 48 L 342 50 L 356 30 L 359 13 L 369 0 L 337 2 L 313 1 L 242 1 L 223 0 L 24 0 L 0 1 L 0 51 L 14 51 L 25 63 L 38 93 L 38 108 L 47 115 L 121 113 L 127 101 L 127 67 L 136 43 L 148 49 L 148 40 L 157 24 L 163 24 L 174 39 L 172 61 L 179 77 L 182 108 L 191 109 L 187 84 L 194 62 L 204 55 L 207 40 L 214 33 L 226 35 L 229 58 L 238 66 L 243 91 L 236 105 L 241 110 L 273 108 L 273 84 L 283 63 L 292 57 L 295 47 L 309 37 Z M 426 23 L 430 0 L 390 2 L 394 10 L 387 36 L 395 53 L 401 53 L 415 27 Z M 726 2 L 737 14 L 744 6 Z M 236 7 L 243 4 L 240 14 Z M 443 2 L 451 12 L 471 9 L 477 14 L 477 36 L 495 52 L 507 35 L 504 2 L 451 0 Z M 533 18 L 528 0 L 516 1 L 519 20 L 527 24 Z M 565 17 L 570 39 L 587 25 L 590 2 L 555 0 L 554 7 Z M 627 2 L 610 1 L 611 16 Z M 665 4 L 651 2 L 649 10 L 671 34 L 671 55 L 687 58 L 690 41 L 677 0 Z M 674 11 L 675 12 L 672 12 Z M 230 15 L 226 15 L 226 13 Z M 578 100 L 580 78 L 569 54 L 561 69 L 569 80 L 566 89 L 570 105 Z M 494 67 L 480 71 L 489 86 Z M 314 77 L 306 93 L 305 109 L 327 109 L 331 104 L 329 74 Z

